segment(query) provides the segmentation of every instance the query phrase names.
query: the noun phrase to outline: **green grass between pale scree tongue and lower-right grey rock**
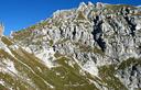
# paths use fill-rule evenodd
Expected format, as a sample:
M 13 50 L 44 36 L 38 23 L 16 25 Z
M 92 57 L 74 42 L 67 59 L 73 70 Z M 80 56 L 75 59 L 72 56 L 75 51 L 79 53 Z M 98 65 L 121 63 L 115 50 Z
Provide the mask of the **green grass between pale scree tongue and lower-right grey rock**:
M 109 90 L 128 90 L 115 75 L 115 65 L 99 67 L 99 77 Z

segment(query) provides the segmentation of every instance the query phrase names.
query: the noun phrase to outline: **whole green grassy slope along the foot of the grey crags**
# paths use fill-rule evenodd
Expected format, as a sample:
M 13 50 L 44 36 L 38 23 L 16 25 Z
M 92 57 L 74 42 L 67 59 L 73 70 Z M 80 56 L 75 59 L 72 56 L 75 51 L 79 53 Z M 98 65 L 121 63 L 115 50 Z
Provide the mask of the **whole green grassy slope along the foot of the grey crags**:
M 8 46 L 12 44 L 9 38 L 4 37 L 2 41 Z M 14 89 L 20 88 L 20 90 L 54 90 L 46 85 L 50 83 L 55 87 L 55 90 L 98 90 L 94 83 L 89 82 L 88 79 L 91 79 L 108 89 L 119 90 L 122 88 L 122 90 L 127 90 L 120 80 L 115 77 L 117 70 L 113 65 L 99 67 L 100 79 L 98 79 L 87 74 L 86 76 L 80 75 L 80 67 L 76 63 L 73 65 L 74 67 L 70 67 L 67 64 L 69 60 L 73 60 L 70 57 L 68 58 L 59 54 L 55 55 L 57 57 L 55 61 L 61 66 L 48 69 L 39 58 L 22 48 L 11 49 L 11 52 L 15 58 L 1 49 L 1 61 L 3 58 L 13 61 L 19 74 L 11 76 L 0 72 L 0 79 L 6 82 L 6 86 L 0 85 L 1 89 L 13 87 Z M 130 58 L 122 61 L 118 69 L 124 69 L 131 64 L 140 64 L 140 60 Z M 29 78 L 34 86 L 26 81 L 25 78 Z

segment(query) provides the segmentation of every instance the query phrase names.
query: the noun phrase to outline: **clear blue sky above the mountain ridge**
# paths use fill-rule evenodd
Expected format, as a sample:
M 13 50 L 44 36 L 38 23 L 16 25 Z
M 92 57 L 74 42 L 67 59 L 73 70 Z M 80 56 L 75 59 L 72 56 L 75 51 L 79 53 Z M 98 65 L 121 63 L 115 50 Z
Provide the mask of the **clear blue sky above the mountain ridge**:
M 4 35 L 33 25 L 56 10 L 76 8 L 83 1 L 141 4 L 141 0 L 0 0 L 0 21 L 6 26 Z

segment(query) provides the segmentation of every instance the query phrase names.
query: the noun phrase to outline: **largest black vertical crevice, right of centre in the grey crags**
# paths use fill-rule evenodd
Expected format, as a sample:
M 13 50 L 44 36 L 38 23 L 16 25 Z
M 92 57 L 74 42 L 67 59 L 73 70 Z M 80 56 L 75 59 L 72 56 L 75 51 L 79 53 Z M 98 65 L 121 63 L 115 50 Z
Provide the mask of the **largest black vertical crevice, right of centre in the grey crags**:
M 99 20 L 99 16 L 96 16 L 96 19 L 94 19 L 94 31 L 91 32 L 94 40 L 97 42 L 97 44 L 100 46 L 101 50 L 105 52 L 106 49 L 106 43 L 102 40 L 102 30 L 101 30 L 101 24 L 102 21 Z

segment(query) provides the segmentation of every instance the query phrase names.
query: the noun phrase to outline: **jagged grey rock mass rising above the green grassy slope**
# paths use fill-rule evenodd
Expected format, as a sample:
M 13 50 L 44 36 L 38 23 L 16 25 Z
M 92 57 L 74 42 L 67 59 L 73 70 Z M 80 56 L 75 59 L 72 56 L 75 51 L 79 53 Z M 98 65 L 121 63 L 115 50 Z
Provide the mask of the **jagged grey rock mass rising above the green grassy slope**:
M 91 76 L 99 76 L 99 67 L 118 66 L 132 57 L 141 58 L 140 15 L 141 9 L 132 5 L 80 3 L 78 9 L 56 11 L 41 22 L 45 25 L 37 24 L 40 29 L 15 32 L 13 40 L 34 55 L 52 48 L 54 54 L 75 59 Z M 28 35 L 22 38 L 24 33 Z M 117 70 L 115 77 L 133 90 L 141 88 L 140 74 L 141 67 L 137 64 Z M 100 89 L 107 90 L 105 87 Z

